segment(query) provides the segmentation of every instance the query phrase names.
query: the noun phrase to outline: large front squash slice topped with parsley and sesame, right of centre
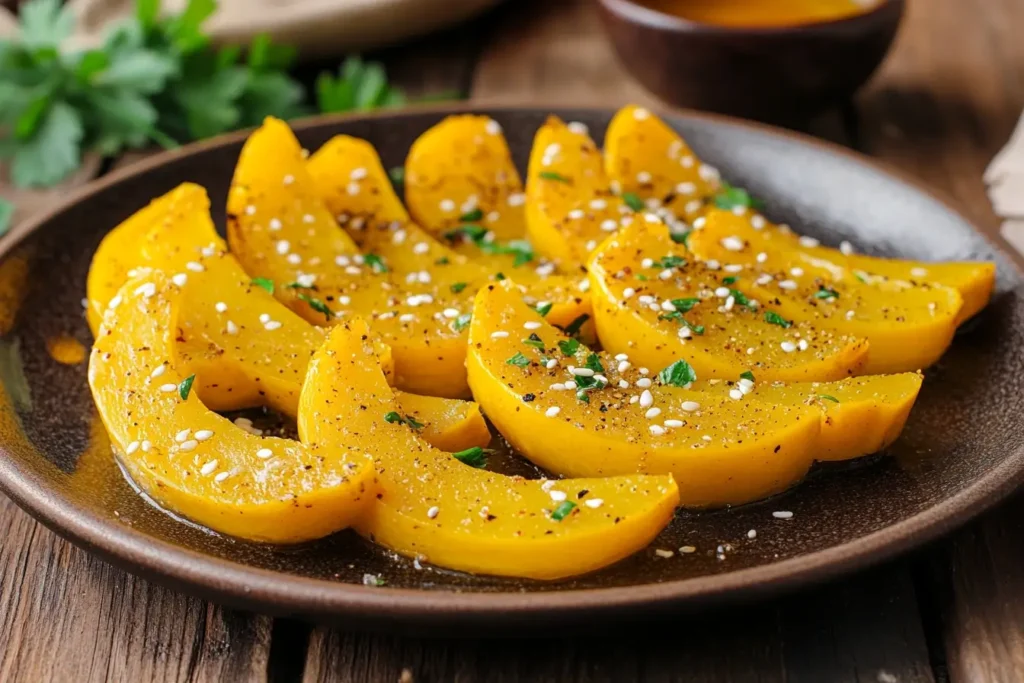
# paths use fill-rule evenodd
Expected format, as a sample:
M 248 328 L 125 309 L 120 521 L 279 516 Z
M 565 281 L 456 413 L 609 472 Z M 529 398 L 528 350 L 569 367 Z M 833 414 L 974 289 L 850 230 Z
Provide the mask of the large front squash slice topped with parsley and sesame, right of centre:
M 591 352 L 505 283 L 477 294 L 470 386 L 499 431 L 541 467 L 567 476 L 671 473 L 682 505 L 717 507 L 783 490 L 814 461 L 814 407 L 667 385 L 662 367 L 632 360 Z M 680 383 L 694 381 L 679 372 Z

